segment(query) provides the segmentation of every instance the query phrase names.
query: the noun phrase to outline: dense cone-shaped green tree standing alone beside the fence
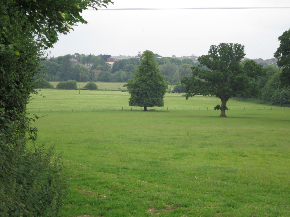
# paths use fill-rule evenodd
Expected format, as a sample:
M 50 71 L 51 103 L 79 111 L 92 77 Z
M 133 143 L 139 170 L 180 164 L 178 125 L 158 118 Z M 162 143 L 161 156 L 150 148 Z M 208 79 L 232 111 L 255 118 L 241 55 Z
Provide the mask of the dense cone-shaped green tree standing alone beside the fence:
M 144 111 L 147 111 L 147 107 L 164 106 L 163 98 L 169 84 L 165 82 L 165 76 L 159 73 L 153 52 L 144 51 L 134 79 L 124 84 L 131 95 L 129 106 L 144 107 Z

